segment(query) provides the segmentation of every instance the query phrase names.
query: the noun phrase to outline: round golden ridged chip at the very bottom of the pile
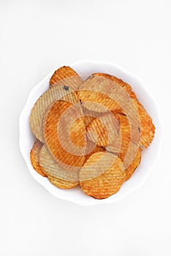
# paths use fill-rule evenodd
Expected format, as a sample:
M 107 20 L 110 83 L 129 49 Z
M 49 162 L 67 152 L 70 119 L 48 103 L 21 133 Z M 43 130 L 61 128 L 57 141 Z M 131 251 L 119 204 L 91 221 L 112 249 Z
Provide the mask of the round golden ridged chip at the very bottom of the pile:
M 126 180 L 126 173 L 122 170 L 121 159 L 109 152 L 105 152 L 105 155 L 107 157 L 104 161 L 100 162 L 99 159 L 102 159 L 104 152 L 96 152 L 95 154 L 92 154 L 80 169 L 79 173 L 81 189 L 86 195 L 90 195 L 96 199 L 104 199 L 115 194 Z M 114 162 L 109 167 L 108 162 L 113 158 Z M 97 163 L 96 166 L 94 166 L 94 162 Z M 98 162 L 100 162 L 99 165 Z M 96 168 L 96 170 L 94 170 L 94 168 Z M 104 169 L 103 173 L 102 169 Z M 87 179 L 89 173 L 93 173 L 94 171 L 96 173 L 99 171 L 99 176 Z

